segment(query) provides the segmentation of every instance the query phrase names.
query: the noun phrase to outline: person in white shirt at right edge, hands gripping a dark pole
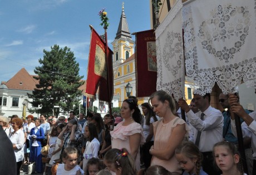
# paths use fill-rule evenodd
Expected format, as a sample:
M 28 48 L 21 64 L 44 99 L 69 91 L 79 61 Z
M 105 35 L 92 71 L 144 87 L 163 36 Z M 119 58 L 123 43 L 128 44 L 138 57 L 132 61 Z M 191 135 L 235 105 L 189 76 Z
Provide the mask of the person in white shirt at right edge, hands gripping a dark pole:
M 243 137 L 252 138 L 251 145 L 253 150 L 253 174 L 256 174 L 256 111 L 247 114 L 247 112 L 243 109 L 243 106 L 239 104 L 237 96 L 233 94 L 229 94 L 229 104 L 231 105 L 231 111 L 244 120 L 241 125 Z M 231 129 L 234 136 L 237 137 L 237 130 L 233 115 L 231 115 L 231 119 Z

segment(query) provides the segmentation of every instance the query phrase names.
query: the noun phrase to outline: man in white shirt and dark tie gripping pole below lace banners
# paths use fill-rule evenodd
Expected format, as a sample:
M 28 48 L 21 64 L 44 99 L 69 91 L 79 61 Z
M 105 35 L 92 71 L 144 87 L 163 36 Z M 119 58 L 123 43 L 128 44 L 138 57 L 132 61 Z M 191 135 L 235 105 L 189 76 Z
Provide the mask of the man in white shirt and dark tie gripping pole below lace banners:
M 179 99 L 179 106 L 186 112 L 189 123 L 194 130 L 193 142 L 203 153 L 203 169 L 209 175 L 221 174 L 213 167 L 213 146 L 222 141 L 223 115 L 219 110 L 210 106 L 210 94 L 201 96 L 194 94 L 195 105 L 199 112 L 196 114 L 190 109 L 183 98 Z

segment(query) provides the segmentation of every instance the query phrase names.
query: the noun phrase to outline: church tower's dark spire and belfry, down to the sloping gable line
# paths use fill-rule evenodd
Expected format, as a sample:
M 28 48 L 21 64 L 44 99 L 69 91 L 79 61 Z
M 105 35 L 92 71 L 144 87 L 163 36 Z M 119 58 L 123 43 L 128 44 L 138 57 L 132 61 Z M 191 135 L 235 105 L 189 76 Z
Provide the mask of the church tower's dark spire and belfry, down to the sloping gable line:
M 126 59 L 134 54 L 134 43 L 135 42 L 131 39 L 131 33 L 129 32 L 123 3 L 119 27 L 117 29 L 115 40 L 111 43 L 114 52 L 114 71 L 119 64 L 124 63 Z

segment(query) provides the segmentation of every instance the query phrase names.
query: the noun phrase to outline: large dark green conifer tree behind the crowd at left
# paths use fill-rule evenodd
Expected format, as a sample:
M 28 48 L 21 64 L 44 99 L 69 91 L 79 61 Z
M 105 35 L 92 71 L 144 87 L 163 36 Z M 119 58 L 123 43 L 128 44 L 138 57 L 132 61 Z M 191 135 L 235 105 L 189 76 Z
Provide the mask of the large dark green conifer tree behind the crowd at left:
M 51 51 L 43 50 L 43 59 L 39 59 L 41 66 L 36 67 L 34 76 L 38 80 L 36 89 L 28 97 L 33 99 L 33 106 L 40 105 L 41 109 L 29 109 L 29 112 L 44 113 L 58 116 L 73 110 L 73 106 L 80 103 L 82 91 L 78 89 L 84 84 L 79 76 L 79 64 L 76 62 L 70 48 L 51 47 Z M 54 108 L 53 106 L 60 106 Z

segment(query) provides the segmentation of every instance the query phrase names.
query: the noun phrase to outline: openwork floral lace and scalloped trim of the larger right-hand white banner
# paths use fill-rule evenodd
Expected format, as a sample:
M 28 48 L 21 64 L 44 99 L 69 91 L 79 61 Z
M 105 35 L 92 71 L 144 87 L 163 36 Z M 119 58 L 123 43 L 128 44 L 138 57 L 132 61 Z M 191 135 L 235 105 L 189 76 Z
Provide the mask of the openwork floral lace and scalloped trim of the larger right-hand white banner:
M 216 2 L 218 3 L 218 2 Z M 254 6 L 250 6 L 250 3 Z M 219 2 L 219 4 L 221 4 Z M 255 35 L 255 17 L 256 17 L 256 1 L 242 3 L 243 6 L 234 6 L 231 3 L 219 5 L 210 11 L 211 19 L 205 20 L 195 31 L 194 19 L 192 16 L 191 6 L 184 6 L 183 8 L 183 28 L 184 28 L 184 44 L 185 44 L 185 66 L 186 74 L 195 81 L 195 94 L 205 95 L 210 93 L 215 82 L 223 90 L 224 94 L 230 92 L 237 92 L 237 86 L 243 81 L 249 81 L 248 84 L 256 87 L 256 57 L 243 58 L 238 63 L 231 63 L 235 58 L 235 54 L 245 52 L 242 48 L 245 42 L 248 42 L 249 29 L 251 35 Z M 249 9 L 253 10 L 249 11 Z M 194 10 L 193 10 L 193 13 Z M 254 15 L 252 16 L 252 13 Z M 230 23 L 229 20 L 235 17 L 241 18 L 238 24 Z M 215 25 L 211 28 L 210 25 Z M 250 27 L 253 25 L 254 27 Z M 212 29 L 212 30 L 211 30 Z M 252 31 L 253 30 L 253 31 Z M 253 33 L 254 32 L 254 33 Z M 252 34 L 253 33 L 253 34 Z M 196 39 L 201 40 L 200 48 L 196 46 Z M 222 47 L 230 38 L 235 38 L 233 45 L 229 44 L 230 48 Z M 247 39 L 247 40 L 246 40 Z M 214 45 L 213 42 L 218 41 L 220 45 Z M 219 47 L 220 46 L 220 47 Z M 219 66 L 212 68 L 199 69 L 198 50 L 203 49 L 210 55 L 214 55 L 220 63 Z M 200 55 L 202 56 L 202 55 Z M 204 55 L 207 56 L 207 55 Z M 223 61 L 223 62 L 221 62 Z M 254 80 L 254 81 L 253 81 Z

